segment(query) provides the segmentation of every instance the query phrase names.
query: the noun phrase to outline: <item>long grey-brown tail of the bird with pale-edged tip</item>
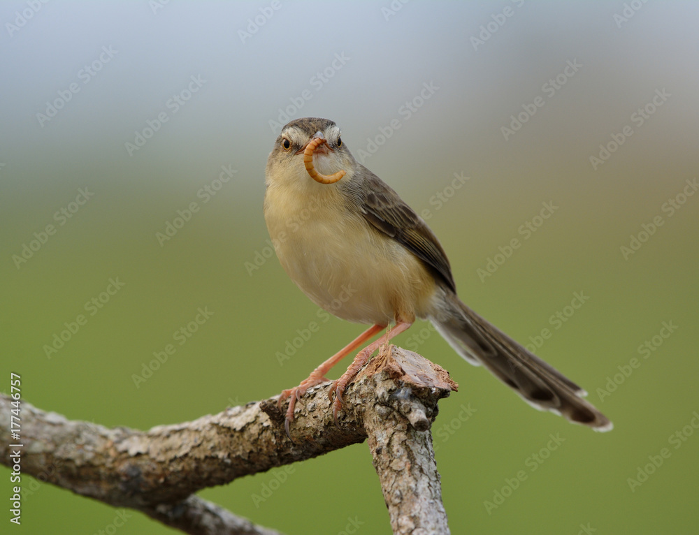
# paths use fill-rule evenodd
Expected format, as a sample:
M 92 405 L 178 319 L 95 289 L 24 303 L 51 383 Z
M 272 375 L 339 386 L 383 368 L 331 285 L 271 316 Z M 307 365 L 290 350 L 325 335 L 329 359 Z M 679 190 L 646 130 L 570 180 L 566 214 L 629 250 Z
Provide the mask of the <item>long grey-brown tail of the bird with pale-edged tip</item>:
M 468 362 L 489 369 L 535 409 L 552 411 L 595 431 L 612 429 L 612 422 L 583 399 L 585 390 L 485 321 L 453 293 L 447 295 L 447 302 L 448 317 L 432 322 Z

